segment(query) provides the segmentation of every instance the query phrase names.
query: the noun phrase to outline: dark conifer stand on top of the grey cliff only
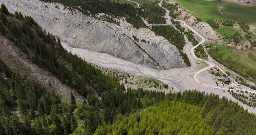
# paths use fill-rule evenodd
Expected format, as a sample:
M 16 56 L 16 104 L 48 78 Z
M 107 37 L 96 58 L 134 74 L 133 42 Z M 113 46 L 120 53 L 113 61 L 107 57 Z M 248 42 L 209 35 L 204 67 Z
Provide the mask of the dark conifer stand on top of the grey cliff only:
M 105 13 L 116 18 L 125 17 L 136 28 L 146 27 L 140 16 L 143 11 L 134 8 L 130 4 L 121 4 L 112 0 L 41 0 L 44 2 L 60 3 L 64 6 L 75 8 L 86 15 L 93 16 L 98 13 Z M 80 8 L 78 8 L 80 7 Z M 72 10 L 69 8 L 70 10 Z M 107 21 L 107 20 L 106 20 Z

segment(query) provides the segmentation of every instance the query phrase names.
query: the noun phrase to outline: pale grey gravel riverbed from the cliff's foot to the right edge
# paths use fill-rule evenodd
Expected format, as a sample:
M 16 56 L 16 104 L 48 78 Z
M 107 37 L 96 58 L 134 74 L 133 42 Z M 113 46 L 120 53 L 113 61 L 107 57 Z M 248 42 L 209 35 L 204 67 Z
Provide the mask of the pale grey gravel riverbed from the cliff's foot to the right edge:
M 232 95 L 230 95 L 227 91 L 224 92 L 222 89 L 219 88 L 212 88 L 212 87 L 206 87 L 203 85 L 200 85 L 196 83 L 196 81 L 193 79 L 193 77 L 190 77 L 189 75 L 192 73 L 195 73 L 196 68 L 196 60 L 192 64 L 196 64 L 192 67 L 184 67 L 184 68 L 174 68 L 170 70 L 156 70 L 153 68 L 145 67 L 139 64 L 133 64 L 131 62 L 122 60 L 120 58 L 116 58 L 114 56 L 110 56 L 108 54 L 99 53 L 99 52 L 92 52 L 88 51 L 86 49 L 82 48 L 72 48 L 68 44 L 62 43 L 62 46 L 72 54 L 76 54 L 77 56 L 81 57 L 83 60 L 99 65 L 101 67 L 107 67 L 107 68 L 115 68 L 121 71 L 126 71 L 129 73 L 134 73 L 136 75 L 141 75 L 144 77 L 150 77 L 154 79 L 158 79 L 162 81 L 163 83 L 166 83 L 170 86 L 173 86 L 174 91 L 185 91 L 185 90 L 193 90 L 196 89 L 198 91 L 204 91 L 206 93 L 214 93 L 217 95 L 220 95 L 220 98 L 223 96 L 226 96 L 228 99 L 237 102 L 240 106 L 244 107 L 244 109 L 248 109 L 248 112 L 250 113 L 256 113 L 256 109 L 253 109 L 253 107 L 249 107 L 248 105 L 243 104 L 242 102 L 236 100 Z M 186 45 L 185 46 L 190 50 L 189 48 L 192 48 L 192 45 Z M 189 59 L 193 59 L 193 57 L 189 57 Z M 210 78 L 209 78 L 210 76 Z M 206 77 L 206 78 L 205 78 Z M 200 80 L 211 80 L 212 76 L 200 76 Z M 168 92 L 168 91 L 166 91 Z

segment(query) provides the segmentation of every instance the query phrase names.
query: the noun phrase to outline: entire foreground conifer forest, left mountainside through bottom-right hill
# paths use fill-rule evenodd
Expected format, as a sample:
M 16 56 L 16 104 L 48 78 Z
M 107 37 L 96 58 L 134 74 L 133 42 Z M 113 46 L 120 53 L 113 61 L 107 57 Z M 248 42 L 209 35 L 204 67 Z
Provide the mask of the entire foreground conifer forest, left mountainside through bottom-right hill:
M 117 79 L 65 51 L 60 40 L 31 17 L 10 14 L 4 5 L 0 37 L 85 98 L 77 102 L 71 93 L 71 100 L 64 102 L 0 58 L 0 135 L 256 134 L 256 116 L 226 98 L 198 91 L 125 89 Z

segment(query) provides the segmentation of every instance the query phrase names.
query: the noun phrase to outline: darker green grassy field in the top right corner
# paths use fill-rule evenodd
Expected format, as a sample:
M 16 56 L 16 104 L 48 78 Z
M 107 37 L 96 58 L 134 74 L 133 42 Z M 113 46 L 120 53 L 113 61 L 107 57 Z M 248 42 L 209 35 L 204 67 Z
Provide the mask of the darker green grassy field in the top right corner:
M 224 15 L 232 18 L 237 22 L 247 24 L 256 24 L 256 7 L 244 7 L 239 4 L 223 2 Z

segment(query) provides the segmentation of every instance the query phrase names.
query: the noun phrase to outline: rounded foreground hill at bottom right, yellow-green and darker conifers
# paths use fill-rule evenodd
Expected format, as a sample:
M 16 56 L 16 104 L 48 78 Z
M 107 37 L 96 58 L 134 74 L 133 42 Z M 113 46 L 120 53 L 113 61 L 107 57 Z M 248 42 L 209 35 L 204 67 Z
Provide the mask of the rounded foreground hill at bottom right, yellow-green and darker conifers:
M 255 135 L 256 116 L 217 95 L 186 91 L 100 126 L 95 135 Z M 170 102 L 171 101 L 171 102 Z

